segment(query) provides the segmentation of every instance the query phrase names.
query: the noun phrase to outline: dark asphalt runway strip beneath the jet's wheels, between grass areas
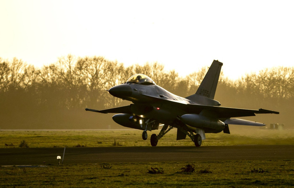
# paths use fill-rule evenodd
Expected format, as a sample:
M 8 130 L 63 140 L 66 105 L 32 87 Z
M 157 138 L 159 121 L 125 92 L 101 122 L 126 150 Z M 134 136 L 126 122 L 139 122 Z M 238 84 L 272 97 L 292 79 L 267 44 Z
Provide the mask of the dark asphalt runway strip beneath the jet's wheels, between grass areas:
M 64 148 L 0 148 L 0 166 L 57 164 Z M 66 148 L 63 164 L 294 160 L 294 145 Z

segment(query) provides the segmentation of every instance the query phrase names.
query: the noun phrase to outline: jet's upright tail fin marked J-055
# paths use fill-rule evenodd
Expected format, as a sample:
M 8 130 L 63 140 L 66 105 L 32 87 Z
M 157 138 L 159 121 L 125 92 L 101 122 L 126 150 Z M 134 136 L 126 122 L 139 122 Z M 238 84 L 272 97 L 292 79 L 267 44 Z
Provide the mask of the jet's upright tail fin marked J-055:
M 214 95 L 216 94 L 216 86 L 218 85 L 218 78 L 220 76 L 221 66 L 223 66 L 222 62 L 213 60 L 195 94 L 205 96 L 209 99 L 214 98 Z

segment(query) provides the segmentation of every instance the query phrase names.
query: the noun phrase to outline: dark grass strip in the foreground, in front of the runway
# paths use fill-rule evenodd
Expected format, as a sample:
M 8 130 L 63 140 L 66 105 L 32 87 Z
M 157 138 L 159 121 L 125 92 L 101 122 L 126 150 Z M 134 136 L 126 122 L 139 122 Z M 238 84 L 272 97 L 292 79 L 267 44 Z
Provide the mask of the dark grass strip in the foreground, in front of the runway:
M 194 164 L 195 172 L 181 173 L 187 164 Z M 103 165 L 0 167 L 0 187 L 294 186 L 293 160 L 107 164 L 110 169 Z M 151 167 L 162 168 L 163 174 L 149 174 Z

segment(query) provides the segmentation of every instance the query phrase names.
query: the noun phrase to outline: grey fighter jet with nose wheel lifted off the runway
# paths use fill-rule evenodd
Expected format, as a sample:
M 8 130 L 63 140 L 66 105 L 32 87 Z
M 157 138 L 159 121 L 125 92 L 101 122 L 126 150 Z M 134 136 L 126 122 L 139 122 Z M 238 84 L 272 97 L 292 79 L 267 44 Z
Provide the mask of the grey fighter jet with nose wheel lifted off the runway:
M 147 140 L 147 131 L 157 130 L 152 134 L 150 143 L 156 146 L 168 131 L 177 128 L 177 140 L 190 137 L 196 147 L 206 139 L 205 133 L 230 134 L 229 124 L 247 126 L 265 126 L 263 123 L 233 118 L 255 116 L 255 114 L 279 114 L 265 109 L 250 110 L 221 107 L 214 100 L 216 87 L 223 63 L 214 60 L 208 69 L 196 93 L 186 98 L 177 96 L 155 84 L 144 74 L 135 74 L 125 83 L 107 90 L 114 97 L 131 101 L 132 104 L 117 108 L 86 111 L 115 113 L 113 121 L 119 125 L 142 130 L 143 140 Z

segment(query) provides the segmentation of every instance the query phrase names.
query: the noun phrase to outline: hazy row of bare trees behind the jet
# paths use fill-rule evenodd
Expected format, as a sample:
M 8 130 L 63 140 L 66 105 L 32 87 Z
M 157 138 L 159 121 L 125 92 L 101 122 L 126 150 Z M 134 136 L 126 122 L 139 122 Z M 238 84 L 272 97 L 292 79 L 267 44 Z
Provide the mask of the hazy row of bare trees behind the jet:
M 112 122 L 111 114 L 84 111 L 86 107 L 105 109 L 129 104 L 105 89 L 142 73 L 168 91 L 186 97 L 196 92 L 207 70 L 203 67 L 180 77 L 158 62 L 125 67 L 100 56 L 67 55 L 36 68 L 17 58 L 0 58 L 0 128 L 120 128 Z M 273 67 L 238 80 L 221 73 L 215 99 L 227 107 L 280 111 L 278 116 L 263 118 L 292 126 L 293 83 L 294 67 Z

